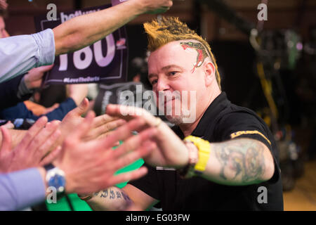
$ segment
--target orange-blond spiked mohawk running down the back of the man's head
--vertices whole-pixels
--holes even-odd
[[[162,17],[158,20],[152,20],[151,23],[144,23],[145,32],[148,37],[148,50],[156,51],[161,46],[171,41],[180,41],[185,39],[195,39],[203,44],[209,53],[216,70],[216,80],[220,87],[220,75],[218,72],[216,60],[211,52],[211,47],[205,39],[199,36],[194,30],[191,30],[185,23],[178,18]]]

